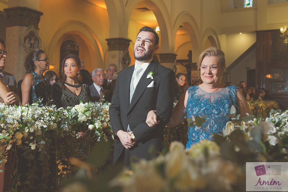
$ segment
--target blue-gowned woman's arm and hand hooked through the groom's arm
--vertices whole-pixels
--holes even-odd
[[[187,100],[188,91],[186,91],[186,93],[182,94],[182,96],[180,97],[179,101],[175,106],[172,117],[170,118],[170,122],[167,124],[167,126],[175,127],[182,121],[182,119],[186,115]],[[149,127],[154,127],[159,123],[159,121],[157,121],[156,111],[149,111],[149,113],[147,114],[146,123]]]

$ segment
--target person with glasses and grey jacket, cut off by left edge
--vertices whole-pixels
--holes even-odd
[[[5,58],[7,55],[7,51],[5,51],[5,43],[4,40],[0,38],[0,43],[3,45],[4,50],[0,50],[0,56],[5,55],[5,57],[2,57],[0,60],[0,78],[4,81],[4,83],[9,87],[11,92],[14,92],[16,95],[19,96],[17,83],[15,80],[15,76],[11,73],[3,71],[5,67]]]

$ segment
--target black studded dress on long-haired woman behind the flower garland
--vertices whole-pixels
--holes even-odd
[[[67,83],[65,83],[67,84]],[[69,84],[68,84],[69,85]],[[81,87],[81,92],[79,95],[71,92],[65,85],[64,82],[56,82],[52,86],[52,104],[56,105],[57,108],[63,107],[74,107],[75,105],[80,104],[80,101],[83,103],[90,101],[90,90],[87,84],[79,83],[79,88]],[[90,155],[90,145],[88,145],[88,136],[80,137],[78,139],[80,146],[77,147],[76,153],[78,159],[84,160],[87,159]]]

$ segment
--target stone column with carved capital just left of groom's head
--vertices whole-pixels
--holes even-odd
[[[118,66],[118,71],[125,69],[131,63],[128,47],[130,45],[129,39],[125,38],[111,38],[105,39],[108,45],[107,65],[113,63]],[[104,69],[106,71],[106,69]]]

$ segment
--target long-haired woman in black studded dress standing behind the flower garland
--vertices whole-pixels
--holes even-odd
[[[62,81],[58,81],[52,86],[52,104],[57,108],[74,107],[90,101],[90,90],[87,84],[83,84],[77,80],[77,73],[80,70],[80,59],[75,55],[68,55],[62,62],[63,77]],[[77,149],[78,159],[86,159],[90,154],[90,146],[87,145],[88,138],[86,133],[78,132],[81,136],[79,142],[81,146]]]

